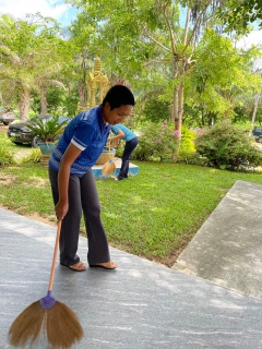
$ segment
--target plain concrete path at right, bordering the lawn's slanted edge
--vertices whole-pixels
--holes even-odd
[[[237,181],[174,268],[262,301],[262,185]]]

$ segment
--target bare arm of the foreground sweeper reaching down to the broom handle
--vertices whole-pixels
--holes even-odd
[[[58,192],[59,192],[59,202],[55,207],[57,218],[63,219],[68,213],[68,186],[69,186],[69,177],[70,177],[70,167],[73,161],[81,154],[81,149],[78,148],[72,143],[69,144],[66,153],[62,156],[59,172],[58,172]]]

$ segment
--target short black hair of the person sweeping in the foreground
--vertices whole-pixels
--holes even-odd
[[[109,103],[111,110],[121,106],[134,106],[134,96],[132,92],[123,85],[112,86],[103,99],[103,107]]]

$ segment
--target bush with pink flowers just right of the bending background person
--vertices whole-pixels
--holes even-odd
[[[178,134],[167,121],[160,123],[147,122],[142,127],[141,134],[132,159],[163,161],[164,159],[171,159],[178,151]]]

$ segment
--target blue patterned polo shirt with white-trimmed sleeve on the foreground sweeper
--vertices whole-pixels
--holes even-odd
[[[52,152],[49,166],[58,171],[61,158],[70,143],[82,151],[70,168],[70,174],[83,176],[91,170],[107,143],[110,125],[104,124],[102,106],[79,113],[67,125]]]

